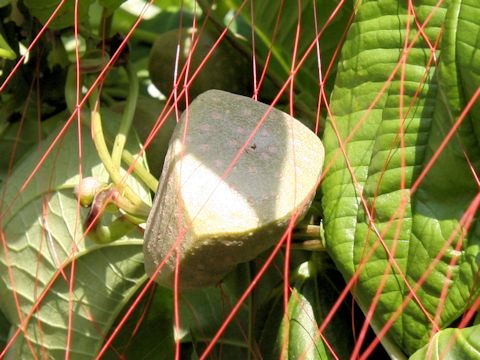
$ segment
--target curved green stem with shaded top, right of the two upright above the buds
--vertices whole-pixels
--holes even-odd
[[[125,70],[128,76],[129,91],[125,104],[125,109],[122,114],[122,121],[120,123],[120,128],[118,133],[115,136],[115,141],[113,143],[112,149],[112,163],[113,166],[120,168],[122,162],[122,151],[125,147],[127,141],[127,136],[132,126],[133,117],[135,115],[135,108],[137,106],[138,98],[138,77],[135,69],[130,63],[125,65]]]

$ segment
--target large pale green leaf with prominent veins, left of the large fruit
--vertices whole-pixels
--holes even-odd
[[[115,121],[111,116],[109,119]],[[53,135],[57,133],[58,130]],[[52,142],[50,136],[15,169],[4,185],[6,189],[1,189],[2,193],[5,190],[2,232],[6,248],[0,257],[0,309],[18,328],[19,313],[25,318],[42,292],[47,292],[25,333],[10,349],[12,358],[32,358],[39,354],[63,358],[68,331],[70,356],[93,358],[116,315],[146,277],[139,232],[129,233],[129,238],[106,246],[97,245],[88,237],[82,239],[87,210],[81,209],[78,214],[73,194],[73,187],[79,181],[77,136],[73,125],[30,185],[21,189]],[[83,176],[106,181],[106,171],[88,129],[82,131],[82,148]],[[148,198],[148,192],[132,177],[129,183],[141,197]],[[70,291],[73,259],[75,272]],[[62,274],[54,279],[62,265],[65,278]]]

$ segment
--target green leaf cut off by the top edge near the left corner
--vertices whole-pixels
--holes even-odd
[[[88,20],[88,9],[93,0],[84,0],[79,2],[78,6],[78,21],[83,22]],[[36,17],[42,24],[52,16],[52,13],[60,4],[57,0],[25,0],[25,6],[30,13]],[[49,28],[52,30],[61,30],[73,26],[75,18],[75,0],[66,0],[55,19],[50,23]]]

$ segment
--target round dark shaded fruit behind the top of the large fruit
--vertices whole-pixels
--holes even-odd
[[[180,43],[178,77],[180,77],[190,52],[193,51],[188,72],[188,79],[190,79],[208,52],[214,48],[218,38],[205,29],[201,34],[195,34],[194,41],[198,39],[198,44],[195,49],[192,49],[194,45],[192,43],[193,31],[194,29],[191,28],[181,29],[180,40],[179,30],[168,31],[159,35],[153,44],[148,66],[150,78],[153,84],[167,97],[173,89],[177,45]],[[189,99],[194,99],[209,89],[248,95],[252,92],[251,79],[251,65],[238,50],[224,39],[215,48],[190,85]],[[184,78],[180,81],[179,92],[183,85]]]

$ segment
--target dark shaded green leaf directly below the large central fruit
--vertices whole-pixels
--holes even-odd
[[[201,353],[210,343],[231,306],[243,292],[239,291],[239,285],[247,285],[244,269],[245,266],[239,267],[238,271],[226,280],[222,289],[209,287],[181,293],[181,328],[178,336],[183,344],[182,358],[188,353],[187,348],[193,347]],[[145,299],[130,316],[110,348],[107,358],[117,359],[118,353],[122,353],[126,358],[174,358],[173,291],[162,286],[157,286],[154,291],[151,302]],[[148,297],[147,295],[146,298]],[[127,304],[124,308],[128,309],[129,306],[130,304]],[[214,353],[219,351],[222,357],[229,358],[225,353],[228,347],[235,354],[235,358],[246,358],[249,311],[248,305],[244,304],[237,320],[228,327]]]

